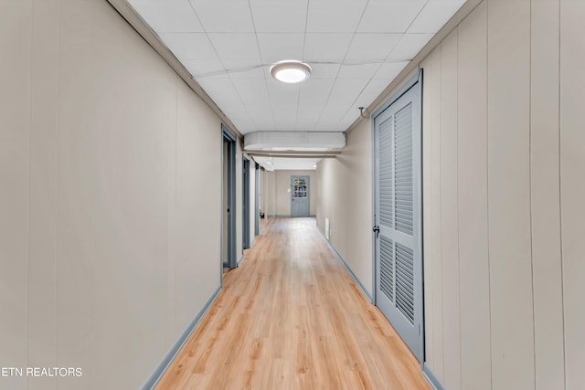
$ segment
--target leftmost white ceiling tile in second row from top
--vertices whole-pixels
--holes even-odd
[[[218,59],[205,33],[166,33],[161,39],[180,60]]]

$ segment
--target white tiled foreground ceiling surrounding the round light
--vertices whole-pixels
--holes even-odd
[[[239,132],[344,132],[465,0],[128,0]],[[298,59],[302,84],[271,79]]]

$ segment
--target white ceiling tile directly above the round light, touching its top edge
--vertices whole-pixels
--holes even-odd
[[[258,43],[265,64],[303,58],[303,34],[258,34]]]

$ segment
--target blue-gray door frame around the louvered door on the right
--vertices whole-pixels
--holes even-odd
[[[414,221],[415,224],[418,225],[418,229],[419,229],[419,237],[418,237],[418,242],[417,245],[419,247],[419,253],[420,253],[420,297],[421,297],[421,302],[420,302],[420,317],[421,317],[421,322],[420,322],[420,334],[421,334],[421,356],[420,356],[420,364],[424,364],[425,362],[425,319],[424,319],[424,247],[422,245],[423,243],[423,232],[424,232],[424,211],[422,208],[422,199],[423,199],[423,191],[424,188],[422,186],[423,184],[423,165],[422,165],[422,159],[423,159],[423,134],[422,134],[422,111],[423,111],[423,107],[422,107],[422,94],[423,94],[423,84],[422,84],[422,69],[419,69],[419,71],[417,73],[415,73],[410,79],[408,79],[400,88],[399,90],[397,90],[386,102],[384,102],[384,104],[382,104],[378,110],[374,111],[371,115],[371,139],[372,139],[372,227],[376,227],[377,224],[377,213],[378,213],[378,208],[377,208],[377,194],[378,194],[378,187],[377,187],[377,183],[378,183],[378,176],[377,176],[377,172],[378,172],[378,154],[376,153],[376,118],[378,117],[378,115],[380,115],[382,112],[386,111],[388,109],[388,107],[390,107],[392,104],[394,104],[397,100],[399,100],[405,93],[407,93],[412,87],[414,87],[417,83],[420,83],[420,172],[419,172],[419,177],[418,177],[418,185],[419,185],[419,194],[418,196],[413,200],[413,202],[419,206],[419,218],[417,221]],[[378,306],[378,286],[376,283],[376,277],[377,277],[377,270],[378,270],[378,261],[377,261],[377,256],[378,256],[378,250],[377,250],[377,241],[376,241],[376,232],[372,231],[372,282],[373,282],[373,289],[372,289],[372,303],[376,306]]]

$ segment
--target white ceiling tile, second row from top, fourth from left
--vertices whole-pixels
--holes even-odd
[[[346,58],[353,34],[307,34],[304,61],[339,61]]]

